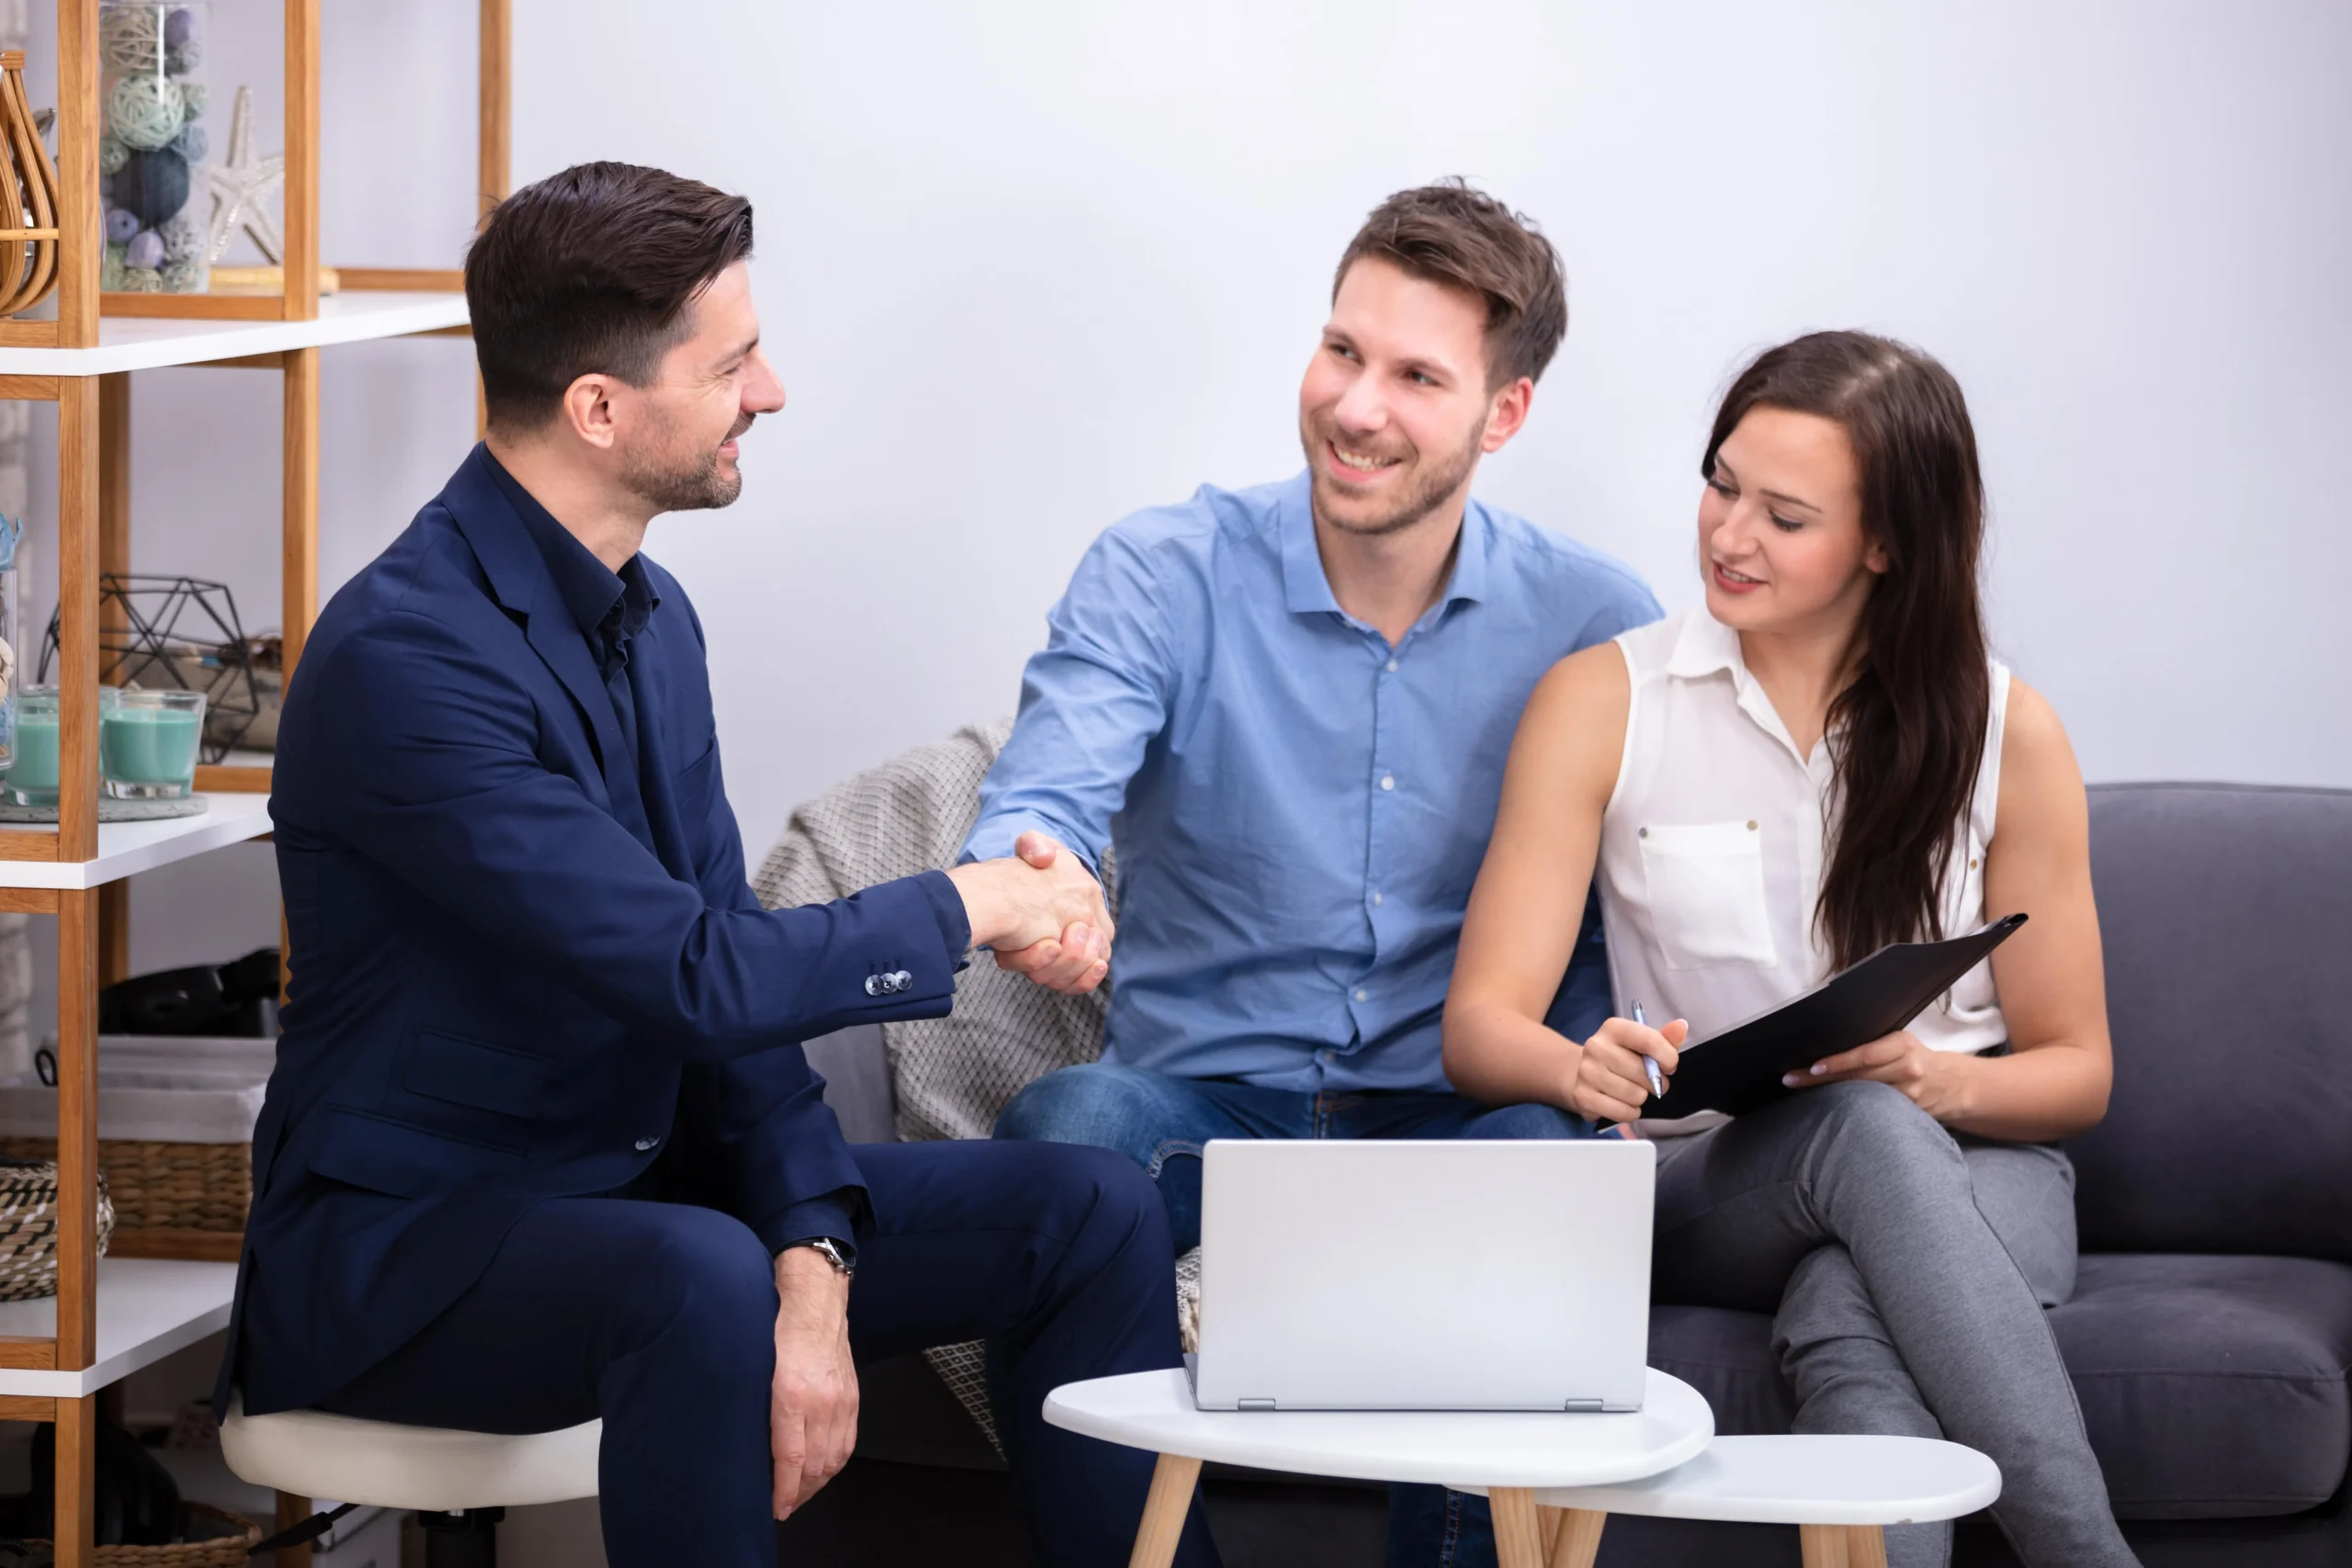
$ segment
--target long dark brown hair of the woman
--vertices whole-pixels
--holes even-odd
[[[1905,343],[1816,331],[1764,350],[1724,395],[1700,475],[1715,477],[1715,454],[1755,407],[1846,428],[1863,529],[1886,552],[1853,628],[1851,682],[1830,703],[1835,842],[1813,922],[1842,969],[1945,936],[1945,867],[1992,710],[1976,592],[1985,482],[1959,383]]]

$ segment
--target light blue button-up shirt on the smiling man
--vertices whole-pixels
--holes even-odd
[[[1268,1088],[1444,1088],[1437,1020],[1536,679],[1658,618],[1630,569],[1470,503],[1397,646],[1341,611],[1308,477],[1103,534],[1021,684],[967,858],[1117,839],[1103,1058]],[[1571,992],[1606,1011],[1597,933]],[[1559,1016],[1559,1013],[1555,1013]]]

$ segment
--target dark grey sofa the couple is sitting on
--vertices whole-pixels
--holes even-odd
[[[2072,1145],[2082,1281],[2051,1328],[2150,1568],[2352,1563],[2352,792],[2091,790],[2117,1081]],[[889,1138],[875,1034],[811,1046]],[[1661,1302],[1651,1361],[1719,1432],[1785,1432],[1769,1319]],[[1025,1563],[1002,1465],[920,1359],[868,1368],[858,1462],[788,1563]],[[1230,1568],[1378,1563],[1378,1488],[1209,1476]],[[1962,1563],[2006,1563],[1983,1521]],[[1602,1563],[1797,1563],[1795,1530],[1613,1521]]]

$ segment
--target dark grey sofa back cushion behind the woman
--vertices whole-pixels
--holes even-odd
[[[2352,790],[2100,785],[2114,1098],[2084,1251],[2352,1262]]]

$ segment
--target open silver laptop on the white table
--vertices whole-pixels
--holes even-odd
[[[1204,1150],[1202,1410],[1639,1410],[1646,1143]]]

